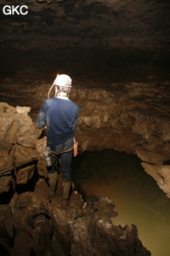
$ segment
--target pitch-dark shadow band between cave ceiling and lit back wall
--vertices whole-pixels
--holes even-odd
[[[167,52],[142,49],[59,48],[0,50],[0,79],[46,82],[56,73],[69,73],[75,85],[110,86],[111,83],[168,81]]]

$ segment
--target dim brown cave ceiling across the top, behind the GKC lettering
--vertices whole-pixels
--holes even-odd
[[[27,15],[3,15],[4,5]],[[169,50],[168,0],[1,1],[2,47]]]

